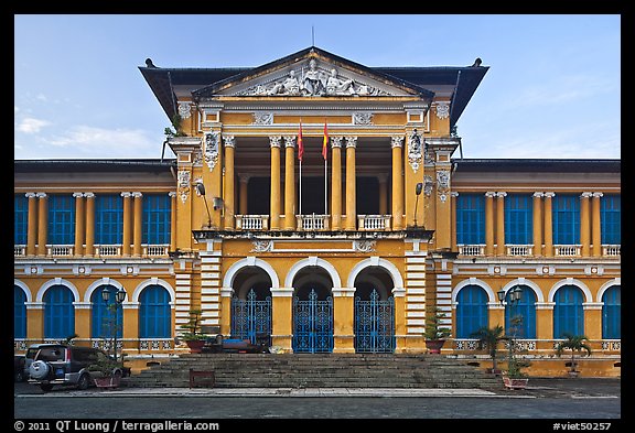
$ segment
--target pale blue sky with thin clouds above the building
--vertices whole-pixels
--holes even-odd
[[[14,159],[161,158],[146,58],[257,67],[311,45],[368,67],[481,57],[464,158],[621,158],[618,14],[17,14]]]

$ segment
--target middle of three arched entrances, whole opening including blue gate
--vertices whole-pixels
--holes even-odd
[[[303,268],[293,279],[294,353],[333,351],[333,281],[316,266]]]

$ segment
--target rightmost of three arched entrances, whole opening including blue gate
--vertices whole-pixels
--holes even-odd
[[[395,351],[395,300],[390,274],[367,267],[355,279],[355,351]]]

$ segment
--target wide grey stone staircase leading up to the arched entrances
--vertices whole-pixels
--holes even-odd
[[[428,354],[187,354],[122,386],[187,388],[190,368],[214,370],[216,388],[503,388],[464,360]]]

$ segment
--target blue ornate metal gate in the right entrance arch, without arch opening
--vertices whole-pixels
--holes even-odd
[[[395,300],[379,300],[373,289],[369,301],[355,297],[355,351],[395,351]]]

